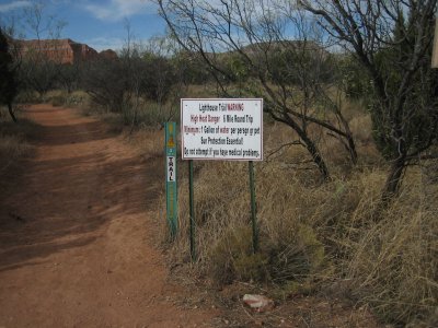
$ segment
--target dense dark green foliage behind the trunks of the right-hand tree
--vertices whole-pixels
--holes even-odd
[[[345,92],[367,103],[376,145],[389,161],[417,154],[438,139],[438,72],[430,68],[433,25],[425,31],[425,55],[410,71],[416,28],[415,22],[405,20],[402,12],[393,28],[392,43],[373,54],[374,75],[369,67],[359,66],[348,57],[343,61]],[[378,85],[376,77],[384,85]]]

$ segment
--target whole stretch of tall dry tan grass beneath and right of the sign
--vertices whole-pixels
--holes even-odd
[[[256,163],[261,249],[251,242],[247,164],[195,166],[197,270],[215,283],[273,284],[284,295],[330,291],[370,305],[387,323],[436,325],[438,187],[411,168],[383,212],[384,167],[322,183],[279,161]],[[182,172],[183,169],[180,169]],[[189,262],[188,187],[180,179],[173,263]]]

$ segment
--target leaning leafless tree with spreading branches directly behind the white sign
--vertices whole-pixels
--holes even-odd
[[[322,28],[289,2],[157,0],[180,44],[204,59],[220,95],[263,96],[265,110],[298,134],[324,178],[330,172],[314,130],[336,137],[356,163],[356,148],[330,95],[332,56]],[[238,90],[235,90],[238,85]]]

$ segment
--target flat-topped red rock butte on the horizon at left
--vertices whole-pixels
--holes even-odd
[[[70,38],[20,40],[19,44],[20,52],[23,57],[43,55],[57,63],[76,63],[97,58],[117,58],[117,54],[114,50],[107,49],[97,52],[92,47],[73,42]]]

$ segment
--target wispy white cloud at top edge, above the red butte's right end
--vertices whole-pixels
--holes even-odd
[[[119,21],[134,14],[150,11],[149,0],[110,0],[105,4],[85,4],[84,9],[96,19],[103,21]]]

